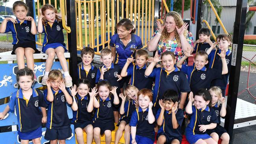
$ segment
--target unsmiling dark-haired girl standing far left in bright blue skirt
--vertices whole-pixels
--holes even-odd
[[[14,113],[15,105],[18,119],[18,135],[21,144],[28,144],[32,139],[33,144],[41,144],[42,123],[46,123],[46,109],[43,93],[32,88],[34,73],[29,68],[22,68],[16,74],[20,89],[13,93],[9,104],[0,113],[0,120],[11,111]],[[41,110],[40,108],[41,107]],[[43,118],[42,118],[43,113]]]

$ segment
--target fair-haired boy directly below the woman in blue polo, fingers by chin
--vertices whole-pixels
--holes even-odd
[[[117,87],[117,95],[121,93],[121,87],[119,86],[119,81],[122,79],[120,76],[120,67],[117,64],[113,64],[113,56],[111,50],[108,48],[103,48],[100,52],[100,60],[103,66],[97,71],[97,76],[95,82],[98,83],[99,79],[107,79],[111,86]],[[120,100],[120,99],[119,99]],[[114,105],[114,116],[115,123],[119,120],[119,107],[120,105]]]

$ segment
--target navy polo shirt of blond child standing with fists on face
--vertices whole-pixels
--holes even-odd
[[[66,90],[70,93],[69,89]],[[54,100],[53,102],[49,102],[46,99],[47,91],[47,89],[44,90],[45,102],[48,104],[46,128],[64,129],[70,127],[69,116],[67,114],[67,101],[64,93],[60,89],[58,92],[52,89]]]

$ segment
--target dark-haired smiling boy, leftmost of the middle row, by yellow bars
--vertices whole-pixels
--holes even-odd
[[[78,76],[80,79],[88,79],[91,88],[95,87],[97,68],[91,63],[94,57],[94,50],[90,47],[85,47],[81,51],[82,65],[78,66]]]

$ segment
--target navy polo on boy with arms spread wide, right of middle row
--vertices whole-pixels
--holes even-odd
[[[213,79],[220,79],[222,70],[206,68],[197,70],[195,66],[182,65],[181,71],[187,74],[190,89],[193,93],[199,89],[210,89]]]

